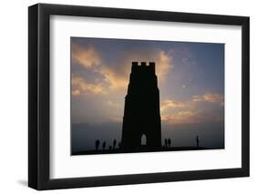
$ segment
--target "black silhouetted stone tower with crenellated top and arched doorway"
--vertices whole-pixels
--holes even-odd
[[[141,139],[146,137],[143,146]],[[161,148],[161,118],[159,111],[158,77],[155,63],[132,62],[125,112],[121,148],[126,150]]]

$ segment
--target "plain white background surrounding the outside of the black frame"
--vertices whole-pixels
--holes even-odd
[[[90,189],[51,190],[46,193],[255,193],[256,191],[256,4],[224,0],[48,0],[40,3],[113,6],[137,9],[251,16],[251,178],[182,181]],[[34,0],[1,2],[0,20],[0,192],[36,193],[27,179],[27,6]],[[255,4],[255,5],[254,5]],[[255,118],[255,119],[254,119]]]

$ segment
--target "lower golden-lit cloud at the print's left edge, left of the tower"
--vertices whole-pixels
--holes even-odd
[[[100,84],[89,84],[82,77],[72,75],[72,96],[87,94],[106,94],[104,87]]]

